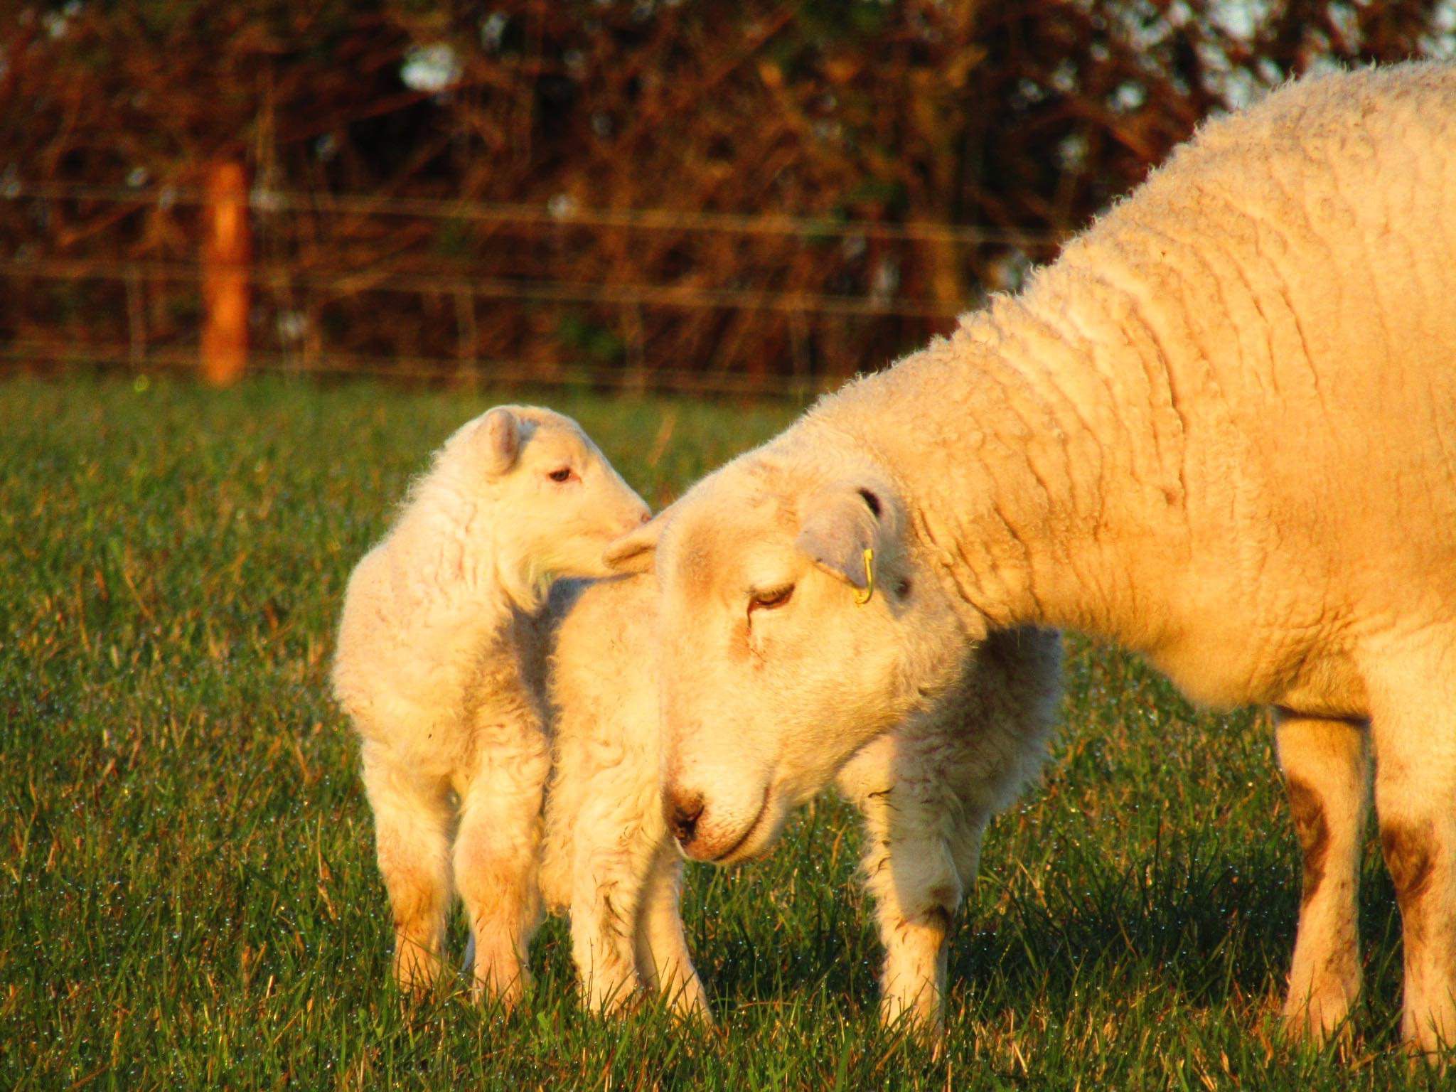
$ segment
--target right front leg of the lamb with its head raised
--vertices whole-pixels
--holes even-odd
[[[527,951],[542,920],[537,866],[549,766],[539,732],[495,740],[460,801],[454,872],[470,922],[472,993],[507,1008],[531,981]]]

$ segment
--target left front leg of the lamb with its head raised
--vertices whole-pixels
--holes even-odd
[[[440,974],[450,909],[448,786],[364,750],[364,791],[374,811],[374,844],[395,919],[395,980],[428,992]]]

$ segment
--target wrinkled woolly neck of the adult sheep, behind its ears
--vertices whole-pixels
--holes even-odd
[[[1152,581],[1187,550],[1182,451],[1159,447],[1152,411],[1142,419],[1117,392],[1130,368],[1147,384],[1158,367],[1041,314],[1053,317],[997,300],[852,387],[844,411],[863,415],[852,431],[897,472],[922,537],[974,613],[996,628],[1048,625],[1147,649],[1166,625],[1149,610],[1166,601]],[[888,419],[900,427],[885,430]]]

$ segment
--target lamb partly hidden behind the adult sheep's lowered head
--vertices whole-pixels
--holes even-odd
[[[658,791],[658,619],[648,577],[566,593],[555,632],[555,769],[542,890],[569,909],[587,1003],[616,1009],[639,987],[708,1015],[678,916],[681,858]],[[553,600],[558,597],[553,594]],[[862,872],[885,948],[881,1015],[941,1026],[951,916],[976,878],[981,833],[1045,756],[1060,638],[1002,633],[925,716],[872,741],[839,773],[865,820]]]

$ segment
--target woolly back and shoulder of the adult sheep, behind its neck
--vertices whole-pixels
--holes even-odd
[[[1452,253],[1456,66],[1372,68],[1207,124],[989,322],[1118,392],[1171,515],[1238,537],[1230,577],[1370,606],[1456,572]]]

